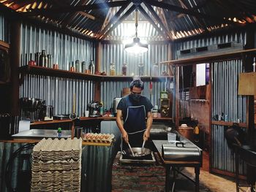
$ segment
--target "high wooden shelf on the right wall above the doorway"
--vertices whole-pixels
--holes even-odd
[[[177,60],[170,60],[170,61],[162,61],[160,64],[173,64],[174,66],[179,65],[186,65],[186,64],[198,64],[199,62],[209,62],[209,61],[223,61],[225,59],[230,58],[241,58],[244,53],[252,53],[256,52],[256,49],[250,49],[250,50],[240,50],[240,51],[234,51],[231,53],[209,53],[209,55],[203,55],[203,56],[194,56],[189,58],[181,58]]]

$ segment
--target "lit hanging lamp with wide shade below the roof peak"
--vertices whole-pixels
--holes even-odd
[[[133,42],[127,45],[124,45],[124,50],[127,53],[145,53],[148,51],[148,45],[140,42],[140,38],[138,38],[138,9],[135,10],[135,38],[133,38]]]

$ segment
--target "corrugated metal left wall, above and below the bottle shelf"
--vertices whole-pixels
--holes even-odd
[[[21,26],[20,66],[28,64],[29,55],[46,50],[51,54],[53,64],[59,64],[59,69],[69,70],[72,62],[79,60],[89,64],[95,58],[95,45],[92,42],[23,24]],[[94,59],[95,60],[95,59]],[[43,99],[46,104],[53,105],[54,114],[69,114],[72,112],[73,96],[75,94],[75,112],[84,116],[89,101],[94,98],[94,82],[88,80],[72,80],[60,77],[45,77],[27,75],[20,86],[21,97]]]

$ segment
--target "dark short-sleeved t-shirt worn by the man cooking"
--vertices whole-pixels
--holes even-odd
[[[128,102],[129,99],[129,102]],[[146,114],[145,116],[147,117],[148,112],[151,111],[153,108],[153,105],[151,104],[151,101],[149,101],[146,96],[140,96],[140,101],[134,101],[132,98],[129,97],[129,95],[124,96],[118,103],[118,106],[116,107],[117,110],[121,110],[123,119],[127,118],[127,108],[128,107],[135,107],[135,106],[145,106]]]

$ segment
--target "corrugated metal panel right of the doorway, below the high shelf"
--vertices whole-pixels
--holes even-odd
[[[246,97],[238,96],[238,74],[243,72],[241,60],[213,63],[211,114],[227,115],[227,121],[246,122]],[[211,126],[211,167],[227,172],[235,172],[235,156],[227,146],[224,137],[225,126]],[[244,164],[239,171],[244,172]]]

